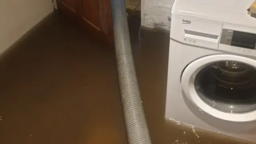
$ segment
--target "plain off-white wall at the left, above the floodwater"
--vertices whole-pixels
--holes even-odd
[[[0,0],[0,54],[52,11],[51,0]]]

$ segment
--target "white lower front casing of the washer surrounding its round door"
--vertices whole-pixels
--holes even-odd
[[[256,142],[256,122],[230,122],[215,118],[192,102],[181,86],[182,72],[183,70],[186,72],[185,70],[188,70],[190,64],[201,58],[222,54],[225,53],[170,40],[165,118],[211,132]],[[218,60],[214,59],[213,61],[217,62]],[[206,105],[209,104],[206,103]]]

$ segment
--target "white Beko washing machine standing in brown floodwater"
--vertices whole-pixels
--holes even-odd
[[[256,142],[253,2],[174,2],[166,118]]]

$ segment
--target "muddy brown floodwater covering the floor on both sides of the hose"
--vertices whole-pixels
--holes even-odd
[[[130,19],[153,144],[241,144],[164,120],[168,34]],[[0,58],[0,144],[127,144],[114,50],[56,14]]]

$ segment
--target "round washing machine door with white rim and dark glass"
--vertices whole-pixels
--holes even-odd
[[[184,95],[209,115],[256,120],[256,60],[229,54],[199,58],[184,68],[181,85]]]

